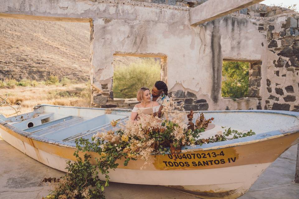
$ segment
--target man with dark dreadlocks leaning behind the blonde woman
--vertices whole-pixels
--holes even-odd
[[[164,81],[156,81],[152,88],[151,100],[158,102],[161,106],[158,112],[158,117],[162,115],[163,104],[169,101],[168,87]]]

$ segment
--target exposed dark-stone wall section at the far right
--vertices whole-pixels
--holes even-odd
[[[299,112],[299,14],[269,19],[264,109]],[[272,61],[272,62],[271,62]]]

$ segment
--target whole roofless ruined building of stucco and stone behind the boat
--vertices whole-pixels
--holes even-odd
[[[90,23],[93,107],[124,106],[112,89],[113,56],[121,55],[160,58],[161,80],[187,110],[299,111],[292,10],[260,0],[0,2],[0,17]],[[223,60],[250,62],[248,98],[221,97]]]

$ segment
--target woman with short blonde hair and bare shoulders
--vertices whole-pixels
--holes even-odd
[[[160,104],[150,100],[150,89],[141,87],[137,92],[137,100],[140,102],[136,104],[131,113],[131,120],[136,120],[137,115],[141,114],[153,114],[157,115]]]

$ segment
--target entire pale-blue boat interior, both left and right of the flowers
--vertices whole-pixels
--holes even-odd
[[[20,134],[34,137],[41,141],[56,141],[57,143],[75,146],[78,138],[92,140],[98,132],[116,131],[123,128],[122,125],[129,120],[130,110],[120,109],[92,109],[81,107],[62,107],[55,105],[40,105],[31,113],[6,118],[0,114],[0,120],[12,125]],[[284,132],[293,131],[293,127],[299,126],[299,113],[289,111],[272,110],[236,110],[236,111],[203,111],[206,118],[213,117],[211,130],[202,133],[201,138],[208,138],[220,131],[231,127],[239,132],[252,130],[256,133],[248,138],[240,138],[237,141],[225,141],[235,143],[254,139],[267,138]],[[193,123],[200,112],[193,116]],[[117,125],[112,126],[111,121],[117,120]],[[222,128],[222,127],[225,127]],[[221,145],[222,143],[210,143],[198,146],[201,148]],[[188,147],[187,147],[188,148]]]

